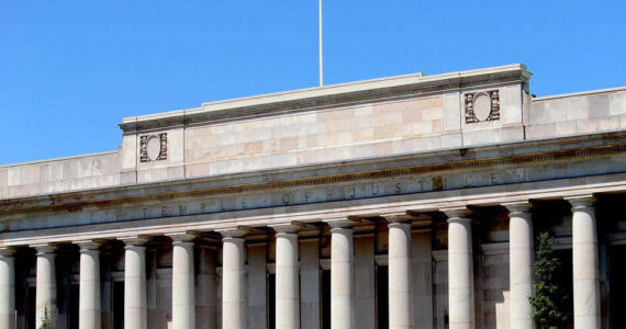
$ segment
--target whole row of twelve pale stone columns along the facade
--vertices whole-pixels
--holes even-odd
[[[568,198],[572,204],[574,327],[600,328],[597,234],[593,197]],[[532,329],[534,236],[527,202],[503,204],[510,212],[510,325]],[[474,287],[471,211],[440,209],[448,217],[448,298],[451,329],[474,328]],[[411,280],[411,217],[390,216],[389,327],[414,328]],[[329,222],[331,325],[358,328],[355,317],[354,222]],[[271,226],[276,231],[276,327],[300,327],[300,265],[298,224]],[[222,328],[246,327],[245,236],[241,228],[222,235]],[[195,328],[194,235],[175,232],[172,239],[172,328]],[[125,245],[124,327],[147,328],[145,237],[121,238]],[[99,241],[75,241],[80,247],[79,328],[100,328]],[[31,246],[36,253],[36,327],[44,314],[57,322],[55,246]],[[202,272],[202,271],[200,271]],[[13,249],[0,248],[0,328],[14,327]],[[203,280],[203,279],[200,279]],[[209,303],[209,302],[208,302]],[[432,319],[425,319],[432,320]]]

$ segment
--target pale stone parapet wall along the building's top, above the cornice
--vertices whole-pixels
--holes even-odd
[[[626,88],[533,99],[511,65],[125,118],[119,151],[0,167],[0,198],[626,129]]]

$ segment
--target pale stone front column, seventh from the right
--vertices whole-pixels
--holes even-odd
[[[222,328],[246,328],[245,235],[242,229],[221,231],[222,241]]]

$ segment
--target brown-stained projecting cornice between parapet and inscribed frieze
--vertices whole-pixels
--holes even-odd
[[[608,143],[610,140],[606,135],[613,135],[615,143]],[[504,151],[503,146],[501,145],[499,147],[487,146],[435,151],[427,155],[417,154],[411,156],[388,157],[384,159],[371,159],[369,162],[365,160],[344,161],[342,163],[336,163],[337,167],[350,168],[350,166],[353,166],[356,167],[357,170],[346,170],[344,172],[342,172],[342,170],[334,170],[334,172],[340,173],[333,174],[322,173],[318,175],[306,175],[302,173],[293,173],[303,169],[294,169],[293,172],[286,172],[284,170],[282,170],[282,172],[261,172],[260,174],[257,172],[255,173],[256,178],[264,175],[270,179],[267,181],[259,179],[250,183],[238,185],[232,185],[228,184],[228,182],[231,179],[241,180],[242,174],[224,178],[187,179],[174,182],[116,186],[25,198],[11,198],[0,201],[0,215],[7,213],[26,214],[31,212],[80,212],[88,208],[108,209],[139,204],[199,200],[217,195],[258,193],[283,189],[298,189],[303,186],[340,184],[418,174],[433,174],[439,172],[444,173],[449,171],[471,171],[492,167],[507,168],[519,167],[523,164],[571,161],[572,159],[624,154],[626,152],[624,135],[626,135],[624,132],[600,134],[596,137],[599,140],[604,141],[604,144],[597,144],[594,139],[590,139],[590,146],[586,147],[577,147],[574,144],[568,146],[567,143],[563,143],[563,139],[551,139],[510,144],[507,151]],[[559,148],[554,147],[554,144],[556,143],[559,143]],[[546,148],[550,150],[544,150],[540,152],[521,151],[523,146],[535,147],[538,145],[547,145]],[[552,147],[550,147],[550,145],[552,145]],[[504,155],[480,158],[481,154],[492,152],[494,150],[499,150],[500,154]],[[424,161],[418,164],[411,164],[411,160],[424,157],[437,159],[437,161]],[[382,167],[381,163],[387,162],[400,163],[400,166],[385,169],[371,169],[372,167],[380,168]],[[324,166],[332,164],[333,163],[327,163]],[[306,169],[311,172],[315,170],[315,167]],[[272,177],[272,174],[275,174],[275,177]],[[286,177],[293,178],[289,179]],[[215,183],[214,181],[221,182]]]

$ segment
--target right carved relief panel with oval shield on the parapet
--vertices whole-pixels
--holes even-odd
[[[466,93],[466,123],[500,120],[500,92],[496,90]]]

